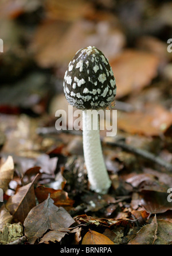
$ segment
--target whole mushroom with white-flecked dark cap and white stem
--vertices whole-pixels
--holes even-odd
[[[101,150],[99,125],[93,128],[90,110],[105,109],[114,101],[116,83],[108,59],[96,47],[80,49],[68,65],[63,85],[69,104],[83,110],[84,159],[91,189],[107,193],[111,181]]]

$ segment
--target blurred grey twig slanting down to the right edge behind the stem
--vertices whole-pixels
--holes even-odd
[[[128,152],[132,152],[136,155],[142,156],[143,158],[146,158],[147,160],[150,160],[154,163],[157,163],[158,165],[165,167],[167,171],[172,171],[172,165],[171,163],[168,163],[164,161],[162,158],[159,156],[154,155],[151,152],[148,152],[146,150],[142,150],[140,148],[135,148],[132,147],[131,145],[127,145],[126,143],[123,142],[104,142],[105,144],[112,146],[112,147],[121,147],[123,150],[126,150]]]

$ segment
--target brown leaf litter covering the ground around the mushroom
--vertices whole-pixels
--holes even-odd
[[[140,2],[0,3],[0,244],[172,243],[171,4]],[[117,85],[117,135],[100,131],[105,195],[89,189],[81,131],[54,128],[64,72],[87,45]]]

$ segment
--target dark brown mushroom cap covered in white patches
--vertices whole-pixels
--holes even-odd
[[[96,47],[77,51],[64,76],[64,94],[78,109],[104,109],[114,101],[116,82],[104,54]]]

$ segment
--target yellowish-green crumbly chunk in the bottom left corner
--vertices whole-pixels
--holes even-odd
[[[24,231],[21,224],[7,223],[5,226],[3,226],[2,230],[0,231],[0,244],[14,242],[18,238],[21,238],[23,234]]]

